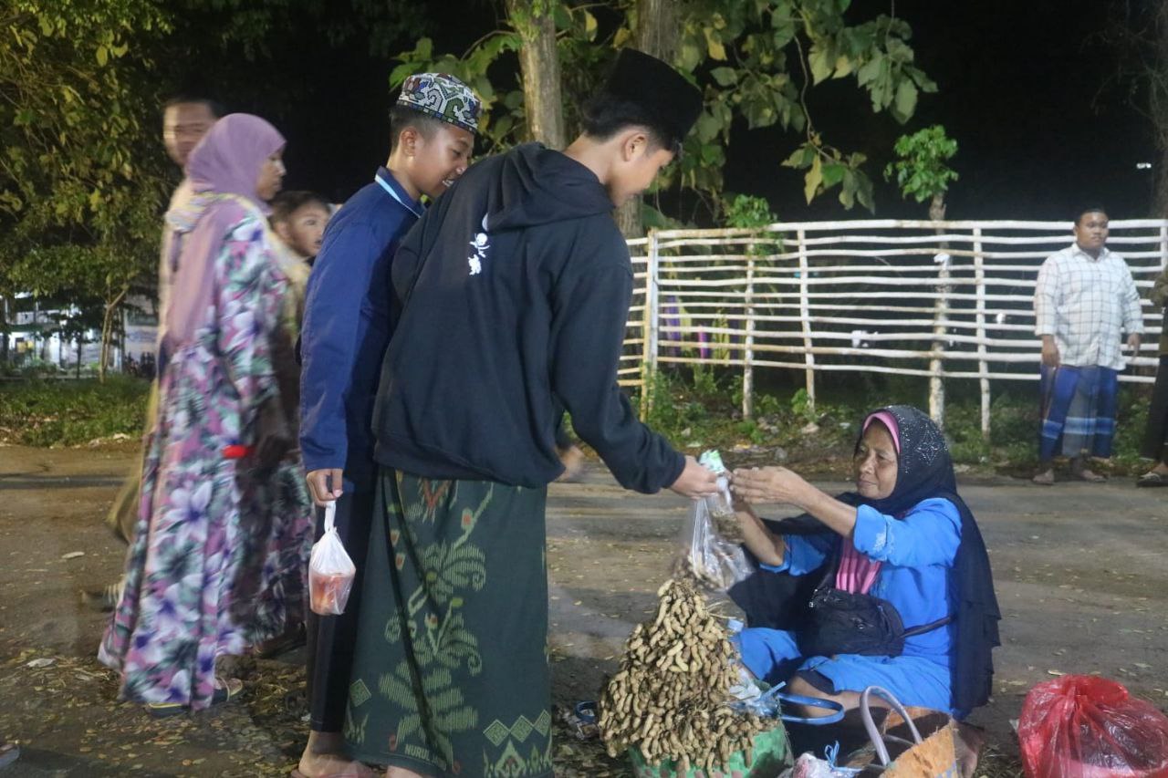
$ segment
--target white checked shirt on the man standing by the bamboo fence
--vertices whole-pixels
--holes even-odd
[[[1142,333],[1140,293],[1127,263],[1106,246],[1099,257],[1077,243],[1051,255],[1034,293],[1035,334],[1054,335],[1059,361],[1122,370],[1121,333]]]

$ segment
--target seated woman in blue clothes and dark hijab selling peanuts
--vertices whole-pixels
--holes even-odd
[[[864,419],[854,467],[856,491],[837,498],[784,467],[735,471],[746,548],[760,568],[755,577],[806,576],[816,585],[814,606],[790,628],[752,626],[738,634],[743,664],[769,682],[788,681],[793,694],[846,709],[876,685],[906,706],[964,717],[989,697],[1000,613],[985,543],[957,494],[945,438],[925,414],[891,405]],[[774,532],[750,501],[795,505],[807,514]],[[751,625],[769,623],[764,611],[784,605],[759,597],[765,585],[731,591]],[[827,612],[841,604],[895,609],[903,628],[892,628],[891,641],[847,634],[854,627],[839,625],[854,624],[851,616],[833,620]]]

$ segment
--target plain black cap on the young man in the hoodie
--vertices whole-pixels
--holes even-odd
[[[656,57],[621,49],[603,92],[644,109],[646,118],[680,144],[702,112],[702,92]]]

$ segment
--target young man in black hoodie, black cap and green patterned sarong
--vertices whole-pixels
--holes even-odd
[[[700,110],[682,76],[625,49],[568,150],[472,167],[394,258],[374,412],[384,520],[346,727],[389,776],[552,774],[544,499],[565,409],[625,487],[716,489],[617,385],[633,273],[611,211]]]

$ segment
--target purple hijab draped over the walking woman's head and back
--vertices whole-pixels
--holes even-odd
[[[167,211],[173,229],[171,303],[162,322],[159,371],[168,357],[189,343],[207,322],[215,286],[215,258],[229,231],[249,213],[267,213],[256,182],[269,157],[284,147],[276,127],[248,113],[231,113],[215,123],[187,160],[194,195]],[[235,195],[235,196],[224,196]]]

